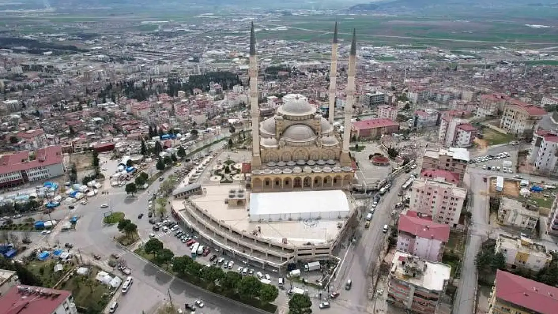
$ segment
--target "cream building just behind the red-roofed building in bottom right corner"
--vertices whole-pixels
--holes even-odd
[[[500,234],[494,251],[504,254],[509,269],[524,268],[538,272],[552,260],[552,255],[546,252],[544,245],[534,243],[526,236]]]

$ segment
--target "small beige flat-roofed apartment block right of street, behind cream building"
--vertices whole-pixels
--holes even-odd
[[[532,233],[537,225],[538,210],[524,207],[517,200],[502,197],[496,221],[498,224],[521,228]]]

